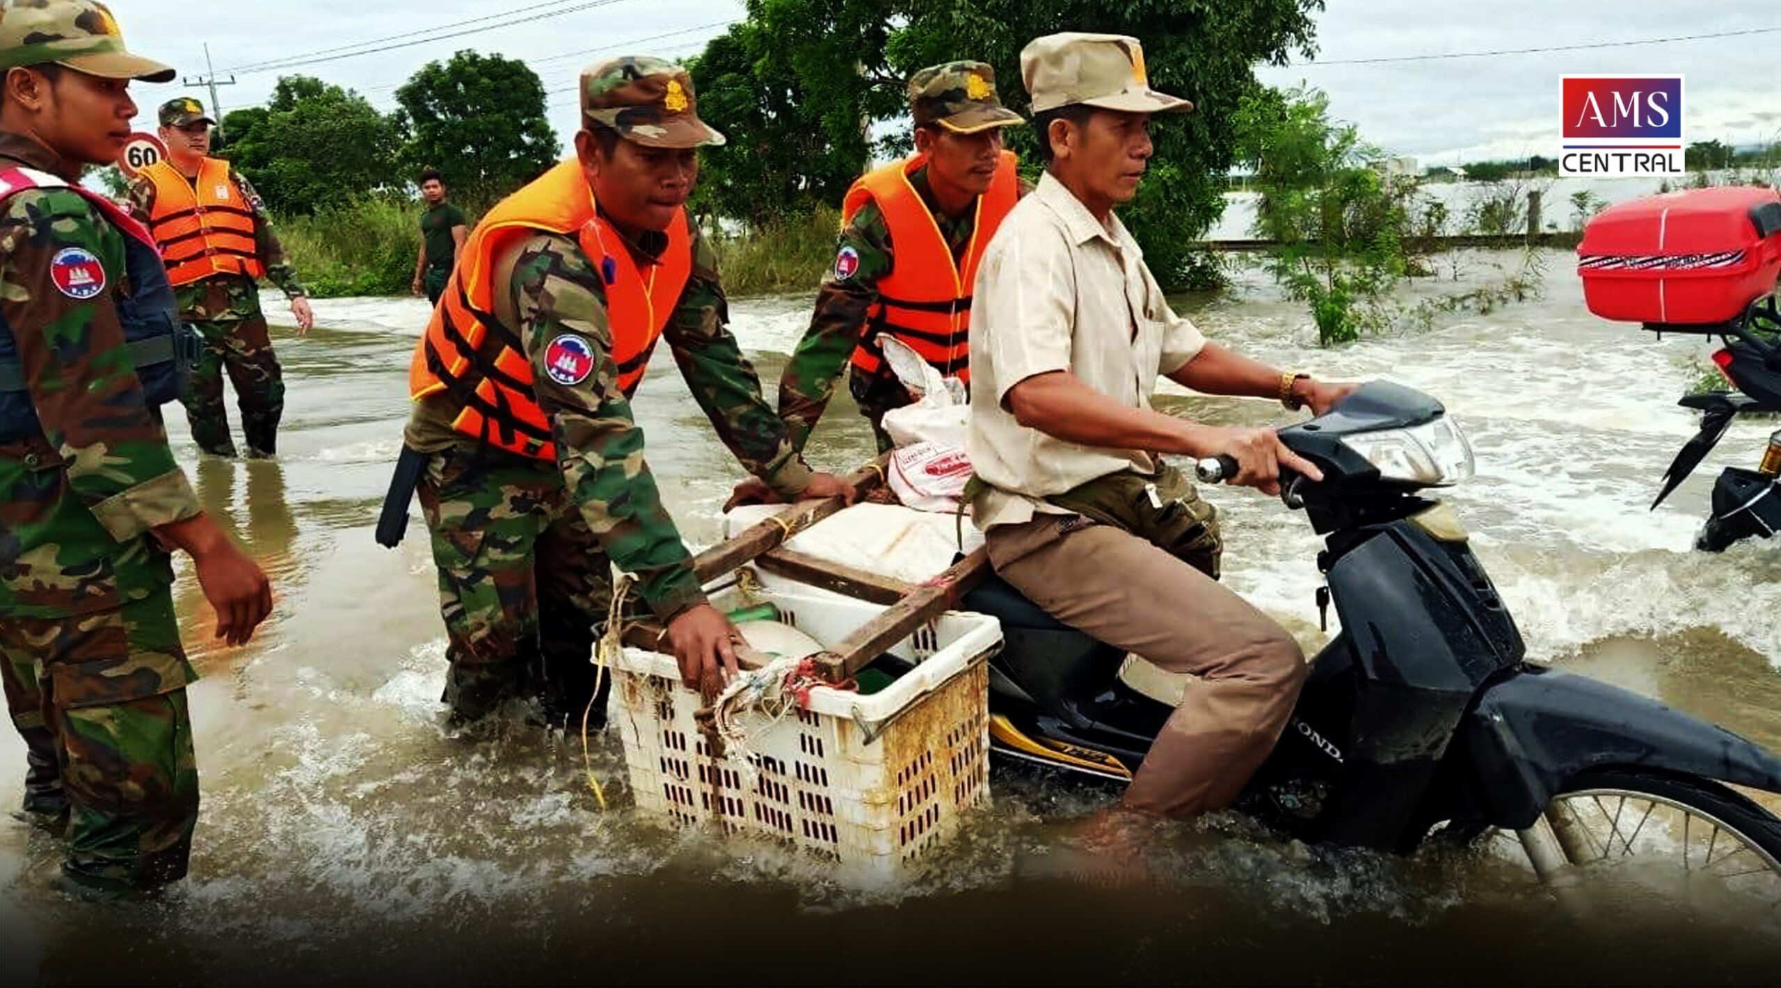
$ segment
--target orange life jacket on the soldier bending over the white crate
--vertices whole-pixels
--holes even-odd
[[[493,315],[499,256],[515,240],[540,230],[573,233],[582,253],[600,269],[613,331],[611,356],[625,397],[643,381],[650,351],[693,272],[693,237],[686,210],[679,210],[668,224],[668,249],[648,265],[648,274],[639,272],[622,235],[595,210],[593,189],[573,158],[502,199],[476,224],[433,320],[415,345],[408,395],[420,401],[443,392],[458,406],[452,427],[459,433],[508,452],[556,459],[550,420],[538,408],[525,347]]]

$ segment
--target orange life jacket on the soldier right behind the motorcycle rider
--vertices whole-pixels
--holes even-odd
[[[908,344],[940,374],[971,381],[971,283],[978,276],[978,262],[996,228],[1001,226],[1015,199],[1021,198],[1021,178],[1015,173],[1013,151],[1003,151],[996,178],[978,196],[976,226],[962,263],[953,262],[953,249],[940,235],[940,226],[908,183],[908,176],[926,162],[924,155],[896,162],[860,176],[841,203],[842,223],[853,219],[867,201],[876,201],[890,230],[890,274],[878,279],[878,304],[866,320],[866,335],[853,349],[853,367],[867,374],[883,367],[883,349],[878,335],[889,333]]]

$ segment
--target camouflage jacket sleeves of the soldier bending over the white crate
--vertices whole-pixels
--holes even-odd
[[[625,246],[643,267],[655,262],[668,237],[645,233],[639,240]],[[588,527],[607,557],[638,577],[638,593],[657,616],[666,620],[703,603],[691,554],[643,461],[643,431],[630,415],[630,399],[618,388],[598,267],[572,237],[538,233],[518,246],[508,290],[538,404],[550,417],[557,468]],[[730,452],[782,497],[793,497],[809,484],[810,468],[760,397],[760,379],[727,320],[718,256],[695,228],[693,274],[663,340]],[[593,370],[579,383],[559,383],[545,368],[545,354],[559,336],[579,338],[593,354]],[[438,450],[472,441],[451,427],[452,413],[443,395],[422,399],[410,417],[408,445]]]

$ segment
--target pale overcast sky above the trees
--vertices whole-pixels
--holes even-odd
[[[1222,0],[1241,2],[1241,0]],[[581,9],[573,9],[581,7]],[[395,87],[427,61],[459,48],[499,52],[533,64],[543,78],[550,123],[573,134],[575,75],[616,53],[686,57],[743,16],[741,0],[265,0],[203,4],[114,0],[130,48],[166,61],[183,75],[203,73],[203,45],[219,75],[224,109],[260,103],[283,73],[306,73],[353,87],[379,109],[395,107]],[[540,16],[531,23],[502,21]],[[335,50],[360,41],[419,32],[452,21],[467,34],[403,45],[319,64],[253,69],[274,59]],[[1672,41],[1551,52],[1382,64],[1334,64],[1505,48],[1542,48],[1781,28],[1772,0],[1640,4],[1630,0],[1330,0],[1318,14],[1318,59],[1263,68],[1263,82],[1307,82],[1330,94],[1334,116],[1361,126],[1373,144],[1416,155],[1423,164],[1553,155],[1558,144],[1558,77],[1565,73],[1687,75],[1685,137],[1738,144],[1781,135],[1781,30],[1744,37]],[[326,55],[317,55],[326,57]],[[971,57],[971,52],[958,52]],[[153,126],[153,107],[182,93],[208,105],[208,94],[180,84],[134,87],[139,125]],[[1186,96],[1193,96],[1188,93]],[[723,121],[712,121],[718,128]]]

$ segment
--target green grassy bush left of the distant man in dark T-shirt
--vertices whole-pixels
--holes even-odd
[[[381,198],[272,217],[290,263],[312,294],[406,296],[420,253],[420,203]]]

